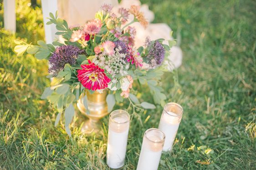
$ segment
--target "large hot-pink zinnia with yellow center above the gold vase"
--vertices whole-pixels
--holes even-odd
[[[82,69],[77,71],[78,81],[83,87],[89,90],[100,90],[108,87],[110,78],[104,73],[104,69],[98,67],[94,63],[81,65]]]

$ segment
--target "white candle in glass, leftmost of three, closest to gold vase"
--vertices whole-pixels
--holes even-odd
[[[107,164],[117,169],[124,165],[130,115],[124,110],[115,110],[109,115]]]

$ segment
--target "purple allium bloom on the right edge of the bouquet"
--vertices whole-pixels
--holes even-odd
[[[160,66],[164,61],[165,50],[163,45],[159,41],[155,41],[151,43],[146,39],[146,45],[148,49],[148,53],[146,58],[151,68],[156,68]]]

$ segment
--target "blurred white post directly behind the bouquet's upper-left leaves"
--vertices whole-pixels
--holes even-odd
[[[47,18],[50,18],[49,13],[55,15],[57,8],[57,0],[42,0],[42,12],[43,12],[43,20],[44,20],[44,28],[45,28],[45,39],[46,44],[51,44],[54,40],[55,33],[57,32],[56,26],[54,24],[47,25],[46,23],[50,21]]]

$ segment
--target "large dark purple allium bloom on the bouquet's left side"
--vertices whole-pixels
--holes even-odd
[[[57,47],[55,52],[49,58],[48,73],[56,77],[58,73],[63,70],[65,64],[75,64],[77,56],[82,53],[84,53],[84,51],[74,45]]]

